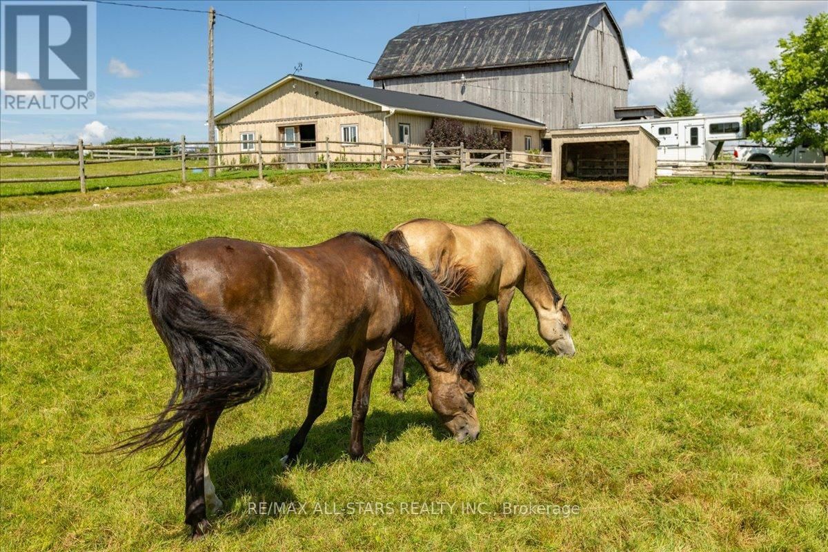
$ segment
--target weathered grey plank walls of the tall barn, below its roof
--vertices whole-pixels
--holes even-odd
[[[587,29],[571,62],[392,77],[374,86],[479,103],[551,129],[612,121],[614,108],[627,105],[623,46],[605,10],[590,18]]]

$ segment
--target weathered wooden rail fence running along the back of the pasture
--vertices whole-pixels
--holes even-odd
[[[76,145],[37,144],[28,142],[0,142],[0,154],[17,157],[32,157],[33,162],[8,162],[0,168],[13,168],[25,171],[35,167],[76,167],[76,175],[66,175],[65,170],[59,175],[43,177],[40,175],[23,175],[19,178],[3,178],[0,184],[23,184],[43,182],[79,183],[79,189],[86,191],[87,179],[128,178],[137,175],[155,175],[167,172],[181,173],[181,182],[187,180],[188,171],[205,170],[203,161],[220,170],[257,170],[258,177],[264,176],[265,168],[280,170],[325,169],[378,166],[382,169],[401,168],[407,170],[412,166],[431,168],[459,169],[461,172],[503,172],[518,170],[550,175],[553,159],[550,153],[529,153],[526,151],[474,150],[460,146],[442,147],[434,144],[388,145],[378,142],[336,142],[329,139],[322,141],[266,140],[261,136],[253,141],[214,142],[218,147],[215,153],[209,153],[208,142],[187,142],[181,137],[180,142],[128,143],[117,145],[94,146],[79,140]],[[67,158],[65,161],[37,161],[40,157],[56,156]],[[71,156],[71,158],[69,158]],[[268,159],[269,157],[269,159]],[[132,161],[146,163],[142,170],[123,170],[117,173],[100,173],[95,171],[88,175],[89,166]],[[153,162],[175,161],[169,167],[152,166]],[[196,161],[202,161],[197,164]],[[604,160],[590,161],[599,170]],[[613,161],[614,162],[614,161]],[[658,161],[657,175],[676,175],[690,178],[717,178],[726,180],[774,180],[781,182],[828,184],[828,164],[826,163],[769,163],[751,161]]]

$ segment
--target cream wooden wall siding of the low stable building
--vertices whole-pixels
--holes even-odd
[[[355,124],[359,127],[359,142],[383,142],[383,117],[388,112],[383,112],[374,103],[365,102],[357,98],[351,98],[333,90],[324,89],[313,84],[300,80],[293,80],[272,92],[257,98],[248,105],[229,113],[219,122],[219,142],[238,142],[243,132],[253,132],[256,137],[260,134],[262,140],[282,140],[279,127],[301,126],[303,124],[315,124],[316,142],[320,149],[324,147],[325,138],[332,142],[341,140],[340,128],[342,125]],[[397,112],[388,117],[388,132],[385,132],[385,143],[388,145],[397,143],[397,128],[399,123],[411,125],[411,143],[424,145],[426,131],[431,128],[434,117],[415,113]],[[541,129],[511,127],[506,123],[492,124],[488,122],[463,122],[466,132],[474,127],[484,127],[493,132],[505,130],[512,132],[513,143],[510,149],[514,151],[523,150],[525,136],[532,137],[532,147],[541,146]],[[359,146],[331,146],[331,151],[338,157],[350,160],[352,156],[347,154],[349,147]],[[280,149],[275,144],[262,147],[265,151]],[[360,147],[365,151],[365,147]],[[292,151],[292,150],[291,150]],[[223,144],[219,147],[222,153],[222,164],[236,162],[240,156],[255,155],[254,151],[241,151],[239,144]],[[267,154],[267,161],[272,161],[275,154]],[[368,161],[368,157],[353,157],[355,161]]]

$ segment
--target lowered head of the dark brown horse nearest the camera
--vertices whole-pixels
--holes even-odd
[[[474,391],[479,377],[474,358],[457,370],[435,372],[426,393],[428,404],[458,442],[473,441],[480,433]]]

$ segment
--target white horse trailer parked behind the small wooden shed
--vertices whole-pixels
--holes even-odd
[[[642,127],[658,139],[658,161],[710,161],[719,155],[724,142],[745,137],[739,113],[586,122],[579,127]]]

